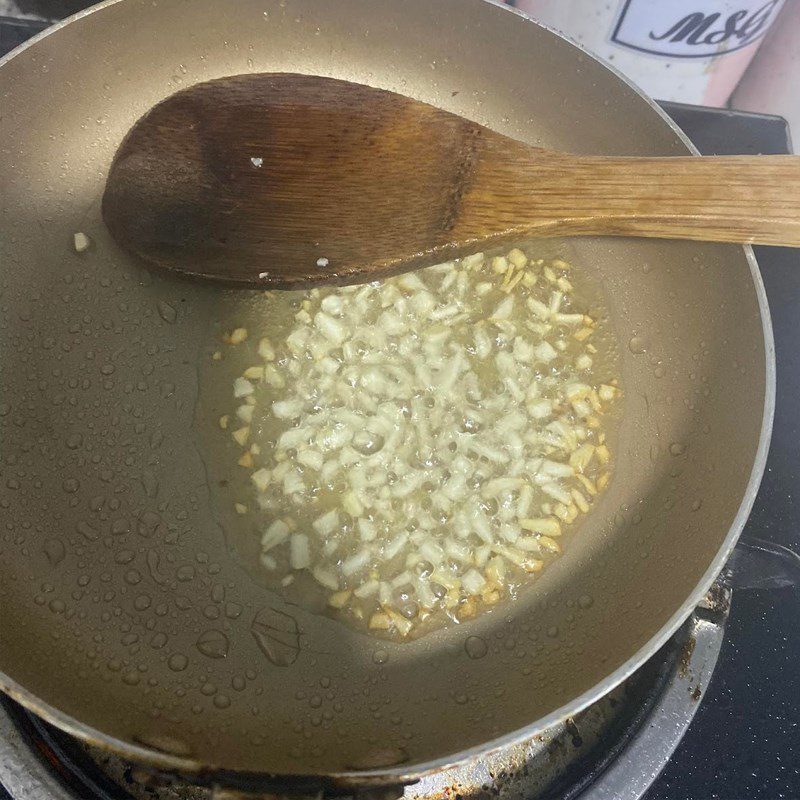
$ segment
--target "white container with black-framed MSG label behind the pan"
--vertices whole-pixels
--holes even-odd
[[[794,0],[797,2],[797,0]],[[785,0],[516,0],[658,100],[724,106]]]

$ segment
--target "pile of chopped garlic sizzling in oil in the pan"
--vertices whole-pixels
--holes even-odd
[[[619,389],[579,282],[560,259],[477,253],[306,292],[284,341],[226,334],[250,360],[220,427],[264,568],[308,571],[332,609],[401,637],[541,570],[609,480]]]

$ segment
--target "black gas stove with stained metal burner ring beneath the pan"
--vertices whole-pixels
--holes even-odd
[[[0,0],[0,55],[76,5],[86,3]],[[790,152],[780,118],[662,105],[705,154]],[[798,583],[800,560],[752,538],[800,550],[800,252],[761,247],[756,257],[775,329],[777,406],[745,531],[751,543],[732,576],[596,704],[513,748],[430,776],[406,789],[408,800],[800,798],[800,592],[789,586]],[[0,800],[234,797],[247,796],[155,775],[0,702]]]

